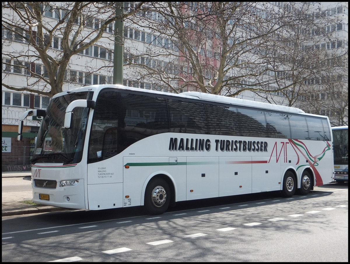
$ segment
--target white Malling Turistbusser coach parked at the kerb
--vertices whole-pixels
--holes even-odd
[[[31,115],[43,116],[31,160],[38,204],[161,214],[177,201],[307,194],[334,172],[328,118],[294,107],[92,85],[20,119]]]

